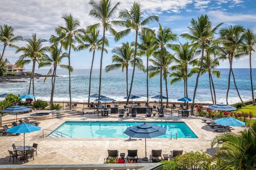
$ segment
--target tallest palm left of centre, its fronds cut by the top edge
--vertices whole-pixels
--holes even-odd
[[[100,80],[99,80],[99,89],[98,89],[98,97],[101,96],[101,70],[102,70],[102,59],[105,45],[105,32],[109,31],[111,34],[115,35],[116,31],[112,28],[111,24],[114,25],[122,25],[120,21],[110,21],[111,18],[114,17],[117,11],[117,7],[120,2],[116,3],[115,6],[112,6],[111,0],[99,0],[96,2],[95,0],[90,0],[89,4],[92,6],[92,9],[89,12],[89,15],[98,19],[100,23],[96,23],[94,25],[88,26],[88,29],[97,29],[100,25],[103,27],[103,37],[102,37],[102,48],[101,48],[101,63],[100,63]],[[97,107],[98,109],[98,107]]]

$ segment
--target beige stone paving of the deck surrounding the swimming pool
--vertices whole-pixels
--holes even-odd
[[[43,129],[54,130],[65,121],[184,121],[198,138],[152,138],[147,139],[147,156],[149,157],[151,150],[162,150],[162,154],[169,154],[171,150],[207,150],[210,149],[210,142],[215,135],[210,127],[202,123],[199,117],[178,118],[177,115],[165,115],[160,117],[145,117],[145,115],[137,115],[137,117],[119,118],[117,115],[102,117],[101,115],[84,114],[75,115],[65,118],[54,118],[41,121],[40,127]],[[232,132],[237,133],[244,128],[235,127]],[[43,138],[43,131],[27,133],[25,144],[38,144],[37,156],[35,160],[29,161],[15,160],[14,164],[97,164],[104,163],[107,158],[107,150],[119,150],[119,153],[126,153],[127,150],[138,150],[139,162],[145,163],[141,158],[145,156],[144,139],[128,140],[128,138]],[[45,130],[45,133],[50,131]],[[23,145],[23,134],[0,136],[0,164],[12,164],[9,162],[8,150],[12,150],[12,144]]]

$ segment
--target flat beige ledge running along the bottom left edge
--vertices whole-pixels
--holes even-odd
[[[0,170],[163,170],[163,164],[149,163],[0,165]]]

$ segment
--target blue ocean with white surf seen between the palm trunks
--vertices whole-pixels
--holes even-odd
[[[217,96],[217,103],[226,103],[226,90],[228,82],[229,69],[218,69],[221,72],[220,78],[214,78],[214,86]],[[27,70],[30,71],[30,70]],[[36,73],[46,75],[48,69],[36,69]],[[74,69],[71,73],[71,95],[72,101],[86,102],[88,101],[89,91],[89,69]],[[251,87],[250,87],[250,69],[233,69],[235,74],[236,84],[240,92],[241,98],[244,101],[250,100]],[[128,70],[128,83],[131,81],[132,69]],[[54,93],[54,101],[68,101],[68,70],[58,69],[56,78],[56,86]],[[253,69],[253,85],[256,94],[256,69]],[[21,80],[21,79],[19,79]],[[29,79],[23,79],[27,83],[13,83],[13,84],[0,84],[0,94],[14,93],[25,94],[28,92]],[[35,79],[35,95],[44,100],[50,100],[51,96],[51,78],[48,78],[43,83],[44,78]],[[149,79],[149,100],[154,101],[150,97],[159,95],[160,92],[160,77]],[[92,70],[92,83],[91,94],[98,93],[99,82],[99,69]],[[102,72],[101,80],[101,95],[113,98],[116,101],[125,101],[126,96],[126,80],[125,72],[121,70],[110,71],[108,73]],[[184,82],[178,82],[170,85],[170,78],[168,78],[168,95],[169,101],[177,101],[177,99],[184,97]],[[188,97],[193,98],[193,90],[196,82],[196,75],[188,79]],[[141,96],[138,101],[146,101],[146,73],[139,70],[135,71],[134,84],[132,88],[133,95]],[[163,81],[163,95],[166,95],[165,82]],[[94,100],[93,98],[91,100]],[[239,102],[237,92],[231,77],[231,86],[229,90],[229,104]],[[199,85],[196,93],[196,102],[212,103],[211,92],[209,89],[208,74],[202,75],[199,78]]]

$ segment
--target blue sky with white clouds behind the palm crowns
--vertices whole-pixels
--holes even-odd
[[[112,0],[113,5],[118,0]],[[118,9],[130,9],[133,0],[121,0]],[[224,23],[222,27],[240,24],[244,28],[252,29],[256,33],[256,1],[255,0],[140,0],[143,6],[145,17],[157,15],[162,26],[170,27],[178,35],[188,32],[188,26],[192,18],[197,19],[201,14],[207,14],[216,26]],[[80,20],[80,27],[98,23],[89,16],[91,6],[89,0],[1,0],[0,25],[8,24],[14,28],[15,35],[30,37],[36,33],[38,37],[49,39],[55,35],[54,29],[64,23],[61,18],[63,14],[72,14],[73,17]],[[118,12],[113,19],[118,17]],[[158,23],[152,23],[149,28],[157,29]],[[121,31],[125,28],[116,28]],[[110,46],[107,47],[108,54],[103,56],[103,68],[112,63],[111,50],[119,47],[122,42],[132,42],[135,40],[134,32],[131,35],[122,38],[118,42],[113,40],[113,35],[106,33]],[[216,35],[218,37],[218,35]],[[185,43],[186,40],[179,37],[179,41]],[[173,42],[173,43],[179,43]],[[18,46],[24,46],[24,42],[15,43]],[[48,46],[45,43],[45,46]],[[3,45],[0,45],[2,53]],[[171,51],[170,51],[171,52]],[[15,54],[14,49],[6,48],[3,58],[8,58],[10,63],[15,63],[22,53]],[[88,50],[74,52],[71,51],[71,66],[74,69],[89,69],[91,66],[92,53]],[[143,58],[146,63],[146,58]],[[68,61],[63,61],[67,64]],[[255,68],[256,54],[252,55],[252,66]],[[95,53],[94,69],[100,67],[100,52]],[[32,64],[26,65],[26,69],[31,69]],[[220,62],[220,68],[229,68],[228,61]],[[249,68],[249,57],[246,56],[239,61],[233,62],[233,68]]]

